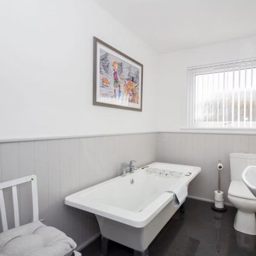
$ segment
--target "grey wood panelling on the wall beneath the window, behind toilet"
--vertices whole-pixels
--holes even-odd
[[[230,184],[229,154],[256,153],[256,135],[160,133],[157,160],[200,166],[202,172],[189,186],[189,196],[212,201],[218,189],[217,163],[221,159],[221,190],[226,203]]]

